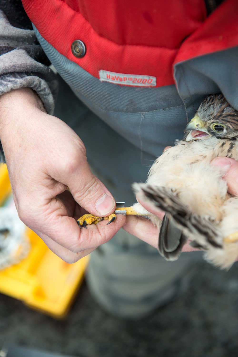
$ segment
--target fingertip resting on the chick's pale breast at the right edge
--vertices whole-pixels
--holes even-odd
[[[224,180],[227,182],[228,192],[238,196],[238,162],[229,157],[216,157],[211,165],[219,167]]]

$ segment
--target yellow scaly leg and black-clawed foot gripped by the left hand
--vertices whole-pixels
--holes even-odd
[[[125,212],[119,213],[118,211],[125,211]],[[90,213],[87,213],[86,215],[79,217],[77,223],[80,228],[82,228],[81,226],[86,228],[86,225],[88,226],[91,224],[97,224],[98,222],[106,221],[106,220],[109,220],[107,224],[112,223],[117,218],[117,214],[141,216],[141,214],[138,214],[133,207],[120,207],[117,208],[115,212],[107,217],[98,217],[98,216],[91,215]]]

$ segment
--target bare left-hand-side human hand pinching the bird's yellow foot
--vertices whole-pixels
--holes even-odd
[[[120,215],[108,226],[102,221],[79,228],[78,217],[108,216],[115,200],[90,171],[77,134],[46,114],[31,89],[0,97],[0,139],[20,219],[63,260],[76,262],[123,226]]]

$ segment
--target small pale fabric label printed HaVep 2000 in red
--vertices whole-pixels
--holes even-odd
[[[99,71],[100,81],[110,82],[114,84],[126,84],[136,87],[154,87],[156,86],[156,77],[143,76],[135,74],[124,74],[104,71],[101,69]]]

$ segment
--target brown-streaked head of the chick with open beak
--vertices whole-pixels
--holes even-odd
[[[193,119],[186,125],[186,141],[215,136],[230,139],[238,136],[238,111],[234,109],[222,94],[206,97]]]

